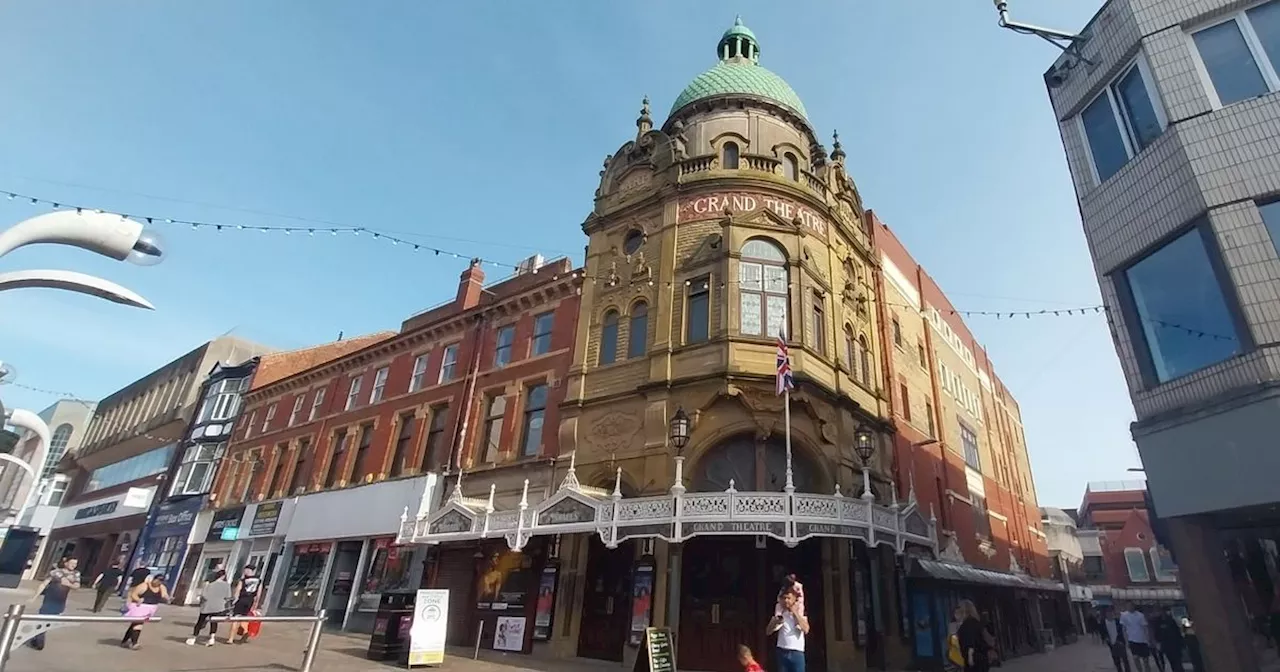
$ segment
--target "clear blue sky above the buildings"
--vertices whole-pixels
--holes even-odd
[[[1015,3],[1083,27],[1100,1]],[[1057,51],[988,0],[541,3],[10,0],[0,12],[0,189],[116,212],[398,232],[500,261],[581,259],[600,163],[658,123],[741,14],[762,63],[865,204],[959,308],[1098,303],[1043,82]],[[0,225],[45,211],[0,200]],[[0,296],[19,383],[97,398],[228,332],[280,347],[394,329],[449,298],[465,260],[370,237],[163,229],[133,268],[58,247],[147,314],[46,291]],[[490,273],[494,278],[498,273]],[[1105,319],[968,320],[1024,413],[1042,504],[1138,463]],[[13,385],[9,406],[55,397]]]

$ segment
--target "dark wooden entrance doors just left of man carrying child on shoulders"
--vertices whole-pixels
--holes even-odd
[[[681,564],[681,669],[739,672],[737,646],[764,645],[763,553],[753,538],[703,536],[685,543]],[[767,658],[762,657],[762,660]]]

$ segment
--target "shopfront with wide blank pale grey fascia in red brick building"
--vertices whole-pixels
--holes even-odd
[[[421,582],[425,549],[398,545],[396,536],[404,511],[433,500],[435,484],[429,474],[297,498],[274,605],[323,608],[334,627],[371,631],[384,593],[411,593]]]

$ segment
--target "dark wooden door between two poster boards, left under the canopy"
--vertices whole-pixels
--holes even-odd
[[[631,626],[628,617],[635,549],[630,541],[623,541],[609,550],[596,535],[593,534],[590,539],[577,654],[621,663],[622,645]]]

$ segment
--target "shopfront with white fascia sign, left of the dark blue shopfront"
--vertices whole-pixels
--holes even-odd
[[[79,562],[87,581],[111,566],[127,562],[147,522],[147,509],[156,488],[129,488],[100,499],[67,504],[58,509],[50,526],[51,553],[45,557],[42,573],[63,558]]]

